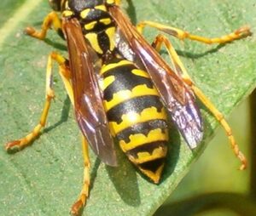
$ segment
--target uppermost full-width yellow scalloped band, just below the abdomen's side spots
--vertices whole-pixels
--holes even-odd
[[[107,87],[103,87],[102,90],[105,90]],[[113,106],[119,105],[127,99],[136,98],[144,95],[159,95],[155,88],[148,88],[146,84],[138,85],[132,90],[121,90],[113,94],[113,99],[110,101],[104,100],[103,104],[106,111],[109,111]]]

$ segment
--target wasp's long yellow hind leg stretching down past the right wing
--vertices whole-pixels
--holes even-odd
[[[157,36],[154,40],[153,47],[157,50],[160,50],[160,46],[162,43],[164,43],[167,52],[170,55],[172,65],[174,66],[175,69],[174,71],[177,73],[177,75],[182,77],[183,81],[193,90],[194,94],[198,97],[198,99],[200,99],[201,102],[207,107],[207,109],[212,112],[212,115],[218,120],[218,122],[220,122],[220,124],[224,128],[224,131],[226,132],[230,140],[232,150],[234,151],[238,159],[241,161],[240,170],[247,168],[247,159],[239,150],[239,146],[236,144],[236,139],[232,134],[230,125],[224,119],[223,114],[220,111],[218,111],[218,109],[212,104],[212,102],[209,99],[207,99],[207,96],[202,93],[201,89],[195,86],[195,83],[189,77],[188,72],[186,71],[175,49],[172,47],[172,43],[168,40],[167,37],[163,35]]]

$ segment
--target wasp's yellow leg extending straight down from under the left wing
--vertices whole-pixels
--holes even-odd
[[[86,200],[89,195],[89,188],[90,188],[90,158],[89,158],[89,151],[88,151],[88,142],[84,136],[82,138],[82,146],[83,146],[83,156],[84,156],[84,180],[83,180],[83,187],[80,192],[79,198],[73,204],[73,207],[71,208],[71,211],[70,211],[71,215],[73,216],[77,216],[82,213]]]

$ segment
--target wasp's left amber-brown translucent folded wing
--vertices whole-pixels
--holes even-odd
[[[102,105],[98,86],[94,56],[86,46],[79,21],[63,20],[67,38],[69,65],[73,85],[74,108],[77,122],[90,147],[102,162],[116,166],[117,160],[108,120]]]

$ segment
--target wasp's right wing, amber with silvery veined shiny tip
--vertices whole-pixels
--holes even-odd
[[[118,6],[110,7],[109,13],[132,52],[148,71],[167,110],[171,113],[172,121],[177,125],[189,147],[195,148],[202,139],[203,126],[193,92],[148,44]],[[125,50],[125,54],[132,52]]]

